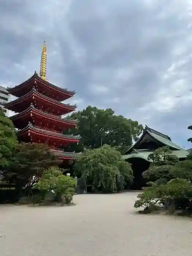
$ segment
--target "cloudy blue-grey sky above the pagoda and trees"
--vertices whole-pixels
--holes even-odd
[[[0,1],[0,85],[39,72],[78,110],[112,108],[192,147],[191,0]]]

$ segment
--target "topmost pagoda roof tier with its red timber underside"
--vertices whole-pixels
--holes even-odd
[[[71,98],[75,91],[69,91],[67,89],[60,88],[47,80],[42,79],[35,71],[34,75],[29,79],[16,85],[15,87],[7,87],[7,91],[15,97],[22,97],[24,94],[29,93],[35,87],[39,93],[42,93],[48,97],[52,97],[58,101],[64,101]]]

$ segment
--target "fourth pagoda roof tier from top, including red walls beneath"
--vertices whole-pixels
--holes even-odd
[[[42,129],[40,127],[35,127],[31,123],[27,127],[18,131],[18,137],[20,140],[30,139],[35,143],[46,143],[49,146],[65,146],[69,143],[78,143],[80,135],[64,135],[56,131],[50,131],[48,129]]]

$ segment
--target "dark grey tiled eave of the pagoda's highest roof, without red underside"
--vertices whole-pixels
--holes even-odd
[[[26,83],[30,82],[30,80],[34,79],[34,78],[37,78],[39,79],[42,83],[48,85],[48,86],[51,86],[53,89],[55,88],[56,90],[59,90],[61,93],[64,93],[64,94],[68,94],[69,96],[73,96],[75,94],[75,91],[69,91],[67,89],[62,89],[60,88],[59,86],[56,86],[48,81],[45,81],[44,79],[42,79],[40,76],[38,76],[37,72],[35,71],[34,75],[32,75],[29,79],[25,80],[24,82],[10,88],[10,87],[7,87],[7,91],[14,95],[14,91],[18,90],[19,87],[25,85]]]

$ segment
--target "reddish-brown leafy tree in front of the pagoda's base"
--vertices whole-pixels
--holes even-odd
[[[26,187],[31,191],[44,170],[57,166],[60,162],[46,144],[20,143],[16,146],[10,168],[4,173],[4,177],[16,184],[18,189]]]

